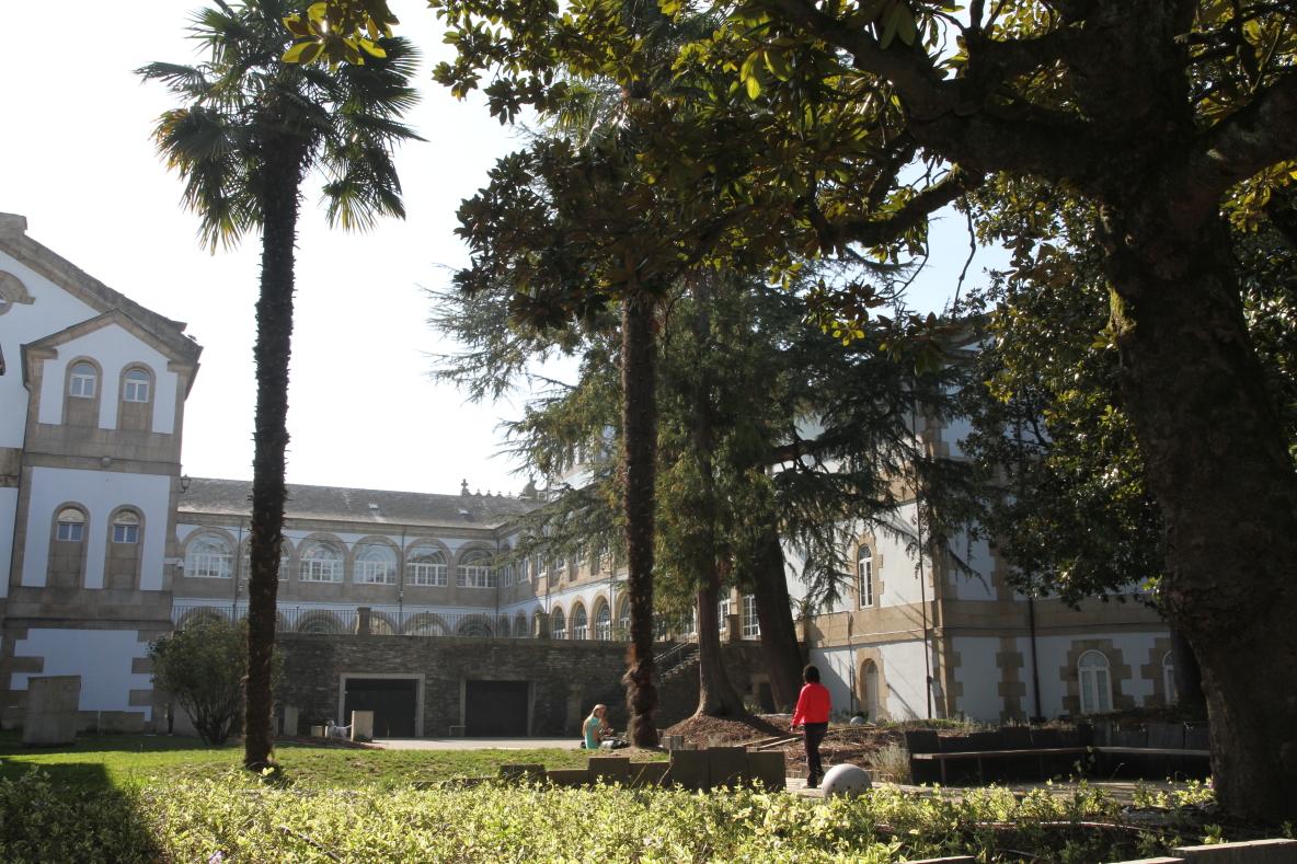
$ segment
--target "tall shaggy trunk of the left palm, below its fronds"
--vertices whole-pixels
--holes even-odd
[[[293,254],[301,148],[271,141],[265,152],[261,296],[257,300],[257,419],[252,480],[248,580],[248,678],[244,690],[244,765],[271,764],[271,672],[275,595],[283,542],[284,451],[288,448],[288,359],[293,333]]]

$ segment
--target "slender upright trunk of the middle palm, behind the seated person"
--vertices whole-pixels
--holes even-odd
[[[630,666],[624,681],[630,741],[637,747],[658,746],[652,716],[658,707],[652,658],[654,483],[658,458],[652,328],[652,298],[629,294],[621,307],[623,486],[626,594],[630,603]]]

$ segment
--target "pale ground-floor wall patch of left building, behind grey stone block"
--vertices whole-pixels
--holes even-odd
[[[131,706],[131,690],[150,690],[150,676],[131,672],[131,660],[148,656],[148,643],[135,630],[29,629],[27,638],[14,643],[14,656],[43,656],[40,672],[16,672],[9,688],[26,690],[27,678],[47,675],[79,675],[82,711],[143,711]]]

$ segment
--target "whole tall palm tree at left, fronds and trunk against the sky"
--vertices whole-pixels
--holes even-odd
[[[392,150],[416,139],[401,117],[418,96],[409,86],[416,56],[402,39],[380,42],[385,57],[364,65],[281,62],[293,36],[283,26],[301,3],[248,0],[197,13],[193,38],[208,51],[196,66],[149,64],[137,70],[183,101],[162,114],[153,138],[167,167],[185,182],[205,245],[233,245],[261,230],[257,301],[256,455],[252,575],[248,586],[248,682],[244,764],[270,764],[271,656],[284,524],[288,445],[288,359],[293,330],[293,254],[301,187],[323,178],[328,221],[364,230],[377,217],[405,215]]]

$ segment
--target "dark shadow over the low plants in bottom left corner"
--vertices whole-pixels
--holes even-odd
[[[102,764],[0,759],[0,861],[165,860],[141,797],[114,789]]]

